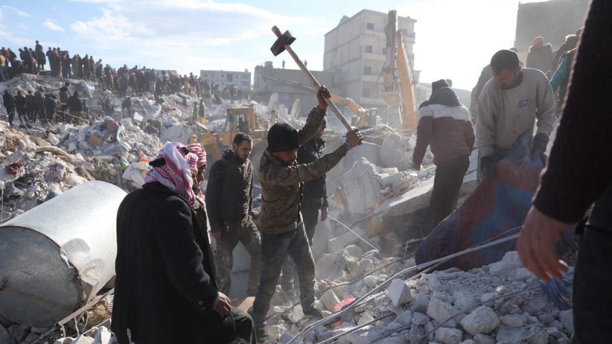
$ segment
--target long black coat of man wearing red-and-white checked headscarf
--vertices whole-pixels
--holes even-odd
[[[119,343],[226,343],[206,212],[159,182],[125,196],[117,214],[111,329]],[[231,317],[230,317],[231,318]]]

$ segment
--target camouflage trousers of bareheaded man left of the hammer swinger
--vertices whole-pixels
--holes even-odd
[[[221,237],[217,239],[217,284],[219,291],[230,295],[231,270],[234,266],[234,248],[242,242],[248,254],[251,255],[251,268],[248,273],[247,296],[255,296],[259,277],[261,277],[261,235],[253,221],[244,223],[228,223],[229,230],[223,228]]]

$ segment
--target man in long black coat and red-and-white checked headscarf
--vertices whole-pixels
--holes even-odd
[[[252,319],[215,281],[198,198],[206,153],[166,143],[151,165],[143,189],[125,196],[117,214],[111,329],[119,344],[255,343]]]

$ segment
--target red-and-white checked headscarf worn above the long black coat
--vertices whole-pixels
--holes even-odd
[[[159,155],[155,157],[155,160],[163,158],[166,163],[149,170],[145,183],[160,182],[172,192],[185,198],[193,206],[195,194],[192,189],[192,174],[198,170],[200,157],[193,153],[191,149],[185,154],[184,148],[188,147],[178,142],[166,142]],[[206,158],[204,157],[204,159]]]

